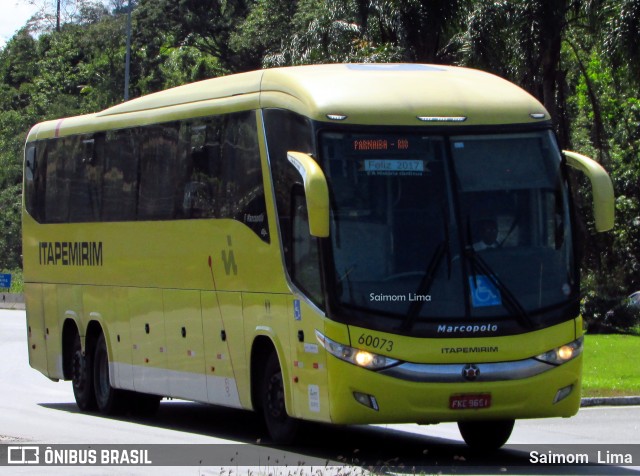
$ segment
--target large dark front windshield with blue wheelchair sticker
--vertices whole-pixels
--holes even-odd
[[[548,131],[321,134],[338,310],[425,321],[535,316],[574,299],[568,193]]]

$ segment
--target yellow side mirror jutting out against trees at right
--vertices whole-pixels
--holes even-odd
[[[567,164],[585,174],[591,181],[596,230],[600,232],[611,230],[615,220],[615,197],[611,178],[595,160],[567,150],[562,152],[567,159]]]

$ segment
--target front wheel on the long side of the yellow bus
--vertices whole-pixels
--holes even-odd
[[[276,352],[271,352],[265,366],[261,391],[262,412],[271,439],[278,444],[291,444],[300,421],[287,414],[282,369]]]

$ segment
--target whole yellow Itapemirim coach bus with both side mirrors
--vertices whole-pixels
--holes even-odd
[[[458,422],[499,447],[580,402],[567,165],[493,75],[346,64],[216,78],[33,127],[29,360],[82,410],[162,397],[303,420]]]

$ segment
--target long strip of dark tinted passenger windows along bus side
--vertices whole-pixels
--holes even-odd
[[[41,223],[232,218],[268,242],[255,112],[30,144]]]

